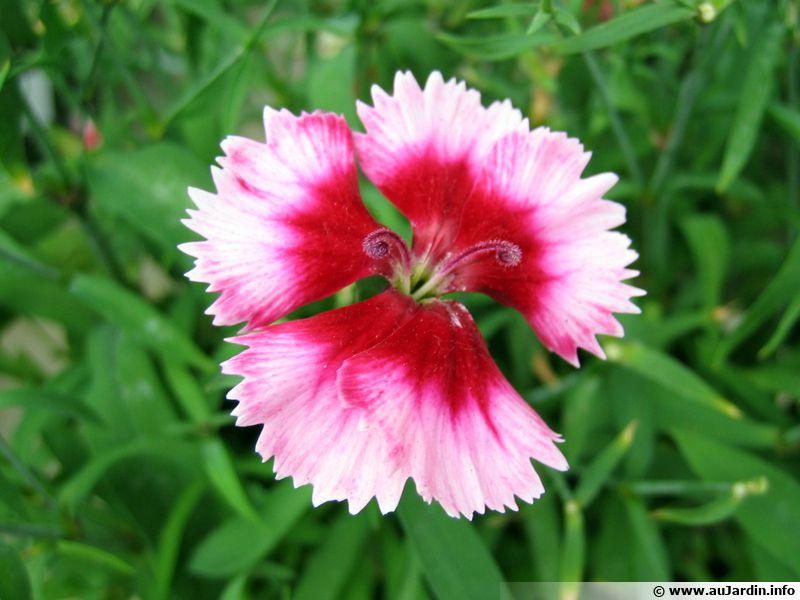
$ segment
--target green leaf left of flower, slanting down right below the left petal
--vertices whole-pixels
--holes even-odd
[[[167,359],[179,359],[216,371],[216,364],[164,315],[113,281],[94,275],[77,275],[70,284],[70,291],[154,352]]]

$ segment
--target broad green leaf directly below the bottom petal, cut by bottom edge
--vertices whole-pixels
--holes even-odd
[[[404,494],[398,516],[439,600],[509,597],[505,578],[471,523],[412,493]]]

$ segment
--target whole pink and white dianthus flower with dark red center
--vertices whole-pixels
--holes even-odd
[[[438,72],[421,89],[398,73],[394,94],[358,104],[366,133],[340,116],[265,111],[266,144],[229,137],[216,194],[191,189],[186,225],[203,241],[193,281],[219,292],[217,325],[246,323],[247,347],[223,364],[243,377],[228,397],[277,477],[313,484],[313,502],[371,498],[385,513],[411,478],[430,502],[471,518],[516,509],[544,491],[532,459],[567,463],[560,437],[506,381],[467,309],[474,291],[519,310],[542,343],[575,366],[612,313],[638,312],[630,240],[609,231],[625,211],[603,194],[613,174],[581,179],[574,139],[530,131],[508,101]],[[355,156],[409,219],[413,244],[377,223],[359,196]],[[273,325],[299,306],[382,275],[387,291]]]

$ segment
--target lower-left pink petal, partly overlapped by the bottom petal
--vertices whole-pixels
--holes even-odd
[[[234,338],[248,349],[223,364],[244,380],[228,398],[238,400],[237,425],[263,425],[256,449],[275,457],[278,478],[314,485],[315,505],[349,500],[361,510],[375,496],[386,510],[400,498],[406,477],[387,459],[382,436],[365,431],[362,411],[340,402],[336,372],[342,362],[380,342],[413,311],[394,291]]]

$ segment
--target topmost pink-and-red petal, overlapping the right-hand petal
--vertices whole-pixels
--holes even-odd
[[[411,221],[417,255],[438,259],[458,229],[461,209],[492,144],[527,120],[509,101],[481,105],[464,82],[434,71],[424,89],[398,73],[394,95],[372,88],[375,106],[358,103],[367,133],[355,134],[361,167]]]

